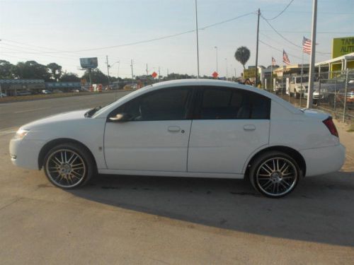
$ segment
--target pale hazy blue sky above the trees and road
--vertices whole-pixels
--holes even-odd
[[[282,49],[291,64],[301,64],[302,37],[311,37],[312,0],[294,0],[278,16],[289,3],[198,0],[200,75],[218,70],[219,76],[240,76],[243,66],[234,58],[240,46],[251,51],[246,66],[255,65],[258,8],[258,64],[268,66],[274,57],[282,65]],[[282,37],[265,20],[275,16],[268,23]],[[316,62],[331,59],[333,37],[354,36],[354,0],[318,0],[316,36]],[[195,0],[0,0],[0,40],[0,59],[56,62],[79,76],[81,57],[98,57],[107,74],[106,56],[110,75],[121,78],[131,77],[131,60],[135,76],[146,68],[149,74],[160,69],[161,76],[197,74]]]

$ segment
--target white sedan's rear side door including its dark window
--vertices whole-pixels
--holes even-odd
[[[198,102],[188,172],[241,174],[249,155],[268,144],[270,99],[248,90],[205,87]]]

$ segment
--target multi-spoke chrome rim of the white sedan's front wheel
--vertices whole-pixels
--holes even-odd
[[[50,154],[45,170],[48,177],[59,187],[71,188],[80,184],[86,174],[81,155],[70,149],[59,149]]]

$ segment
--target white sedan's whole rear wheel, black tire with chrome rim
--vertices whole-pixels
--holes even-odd
[[[269,198],[281,198],[290,194],[299,183],[300,176],[297,162],[290,155],[278,151],[259,155],[253,160],[249,171],[249,179],[254,189]]]

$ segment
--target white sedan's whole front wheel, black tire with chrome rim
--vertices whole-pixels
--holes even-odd
[[[50,182],[62,189],[82,187],[96,175],[91,153],[78,143],[62,143],[50,149],[43,169]]]

